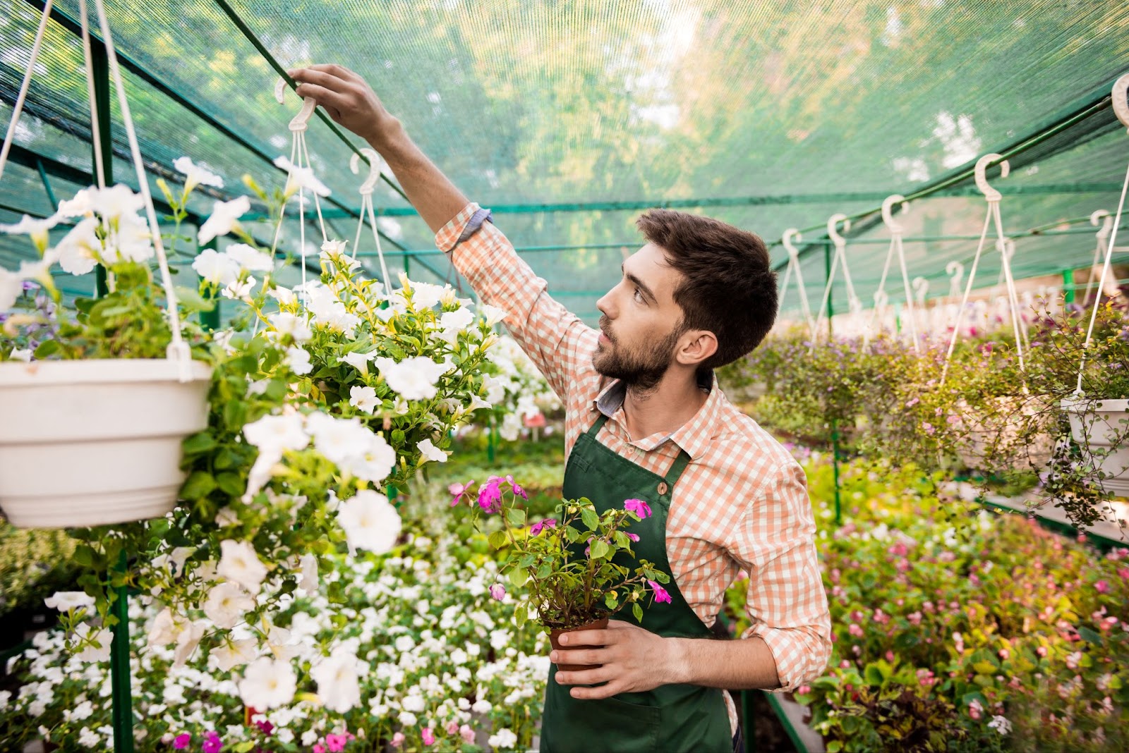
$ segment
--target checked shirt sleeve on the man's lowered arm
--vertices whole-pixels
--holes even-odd
[[[798,463],[767,475],[747,506],[730,553],[749,572],[742,638],[764,640],[780,686],[791,691],[819,677],[831,656],[831,614],[815,552],[815,517]]]

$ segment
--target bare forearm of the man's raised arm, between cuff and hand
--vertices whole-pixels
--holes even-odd
[[[438,232],[470,202],[435,163],[411,140],[403,125],[396,121],[382,139],[369,144],[385,159],[408,201],[423,221]]]

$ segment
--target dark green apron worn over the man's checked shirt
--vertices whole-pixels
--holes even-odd
[[[642,499],[651,515],[631,524],[639,535],[632,549],[636,557],[648,559],[671,574],[666,558],[666,517],[671,495],[690,457],[683,451],[666,477],[653,473],[615,454],[596,441],[607,422],[601,415],[577,440],[564,469],[566,499],[587,497],[603,513],[620,507],[624,499]],[[616,564],[634,568],[637,562],[621,552]],[[630,609],[615,619],[641,624],[664,636],[709,639],[710,631],[679,591],[671,574],[666,585],[671,603],[648,599],[642,621],[636,622]],[[660,685],[641,693],[620,693],[602,700],[578,700],[569,694],[571,685],[557,683],[557,665],[549,671],[545,712],[541,729],[543,753],[732,753],[733,735],[723,691],[700,685]]]

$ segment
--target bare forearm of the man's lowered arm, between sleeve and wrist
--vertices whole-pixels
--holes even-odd
[[[780,686],[772,650],[756,637],[739,640],[667,638],[672,682],[726,690]]]

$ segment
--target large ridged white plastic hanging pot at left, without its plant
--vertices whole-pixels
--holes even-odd
[[[208,426],[211,366],[172,360],[0,363],[0,507],[19,528],[158,517]]]

